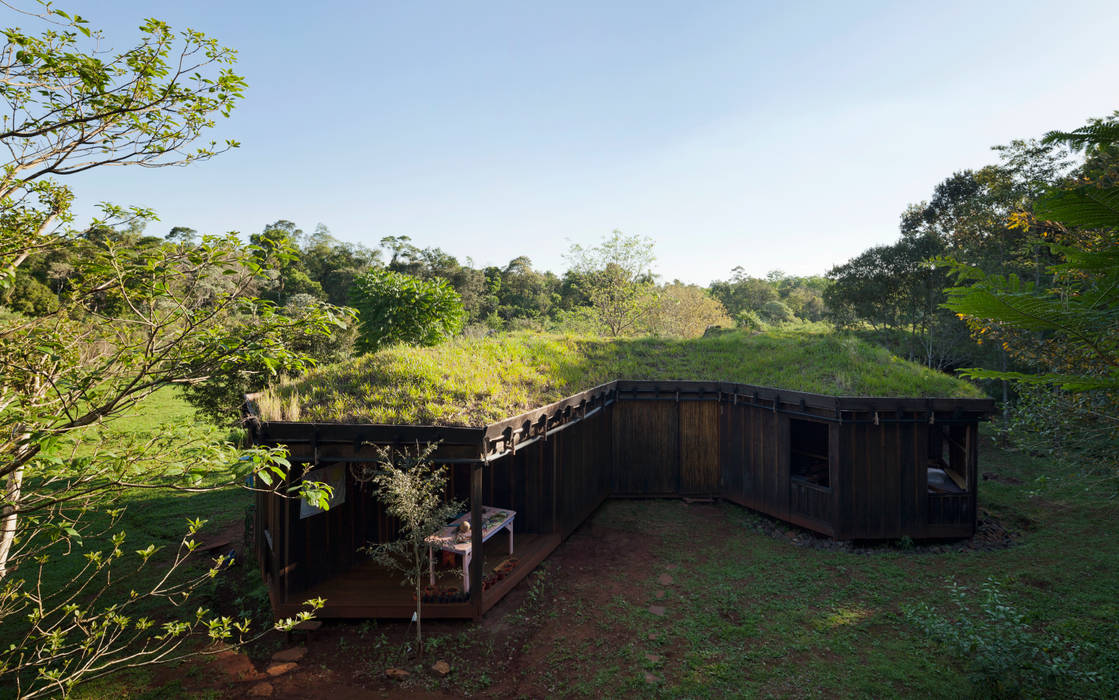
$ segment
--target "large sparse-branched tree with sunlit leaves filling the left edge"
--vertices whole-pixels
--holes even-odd
[[[6,29],[0,48],[0,283],[10,287],[32,256],[66,263],[56,309],[0,321],[0,623],[20,637],[0,650],[0,677],[22,697],[65,696],[83,679],[169,660],[191,633],[244,633],[205,609],[161,625],[133,614],[144,600],[181,604],[197,585],[172,576],[197,522],[166,576],[114,598],[121,566],[156,566],[154,550],[131,550],[112,524],[94,531],[88,514],[117,512],[122,489],[204,489],[216,473],[276,483],[282,453],[241,460],[232,445],[177,445],[175,435],[103,444],[94,429],[167,387],[219,381],[246,363],[298,368],[308,358],[285,346],[290,332],[327,333],[336,321],[329,309],[295,321],[248,294],[263,267],[234,238],[143,237],[150,212],[111,206],[84,233],[56,230],[72,200],[57,178],[187,164],[235,146],[190,144],[236,104],[244,82],[224,67],[234,53],[200,32],[177,36],[148,20],[137,46],[110,55],[97,53],[103,37],[84,19],[43,8],[28,16],[45,22],[41,34]],[[323,495],[316,485],[305,493]],[[58,558],[85,565],[45,589],[44,567]]]

